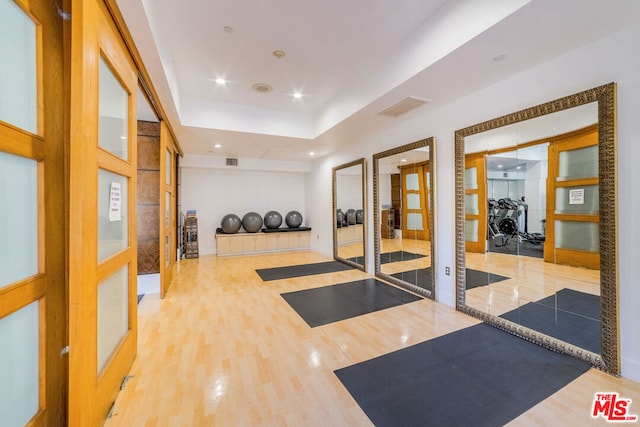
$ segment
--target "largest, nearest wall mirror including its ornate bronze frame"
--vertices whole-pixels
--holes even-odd
[[[616,86],[455,133],[457,308],[617,374]]]

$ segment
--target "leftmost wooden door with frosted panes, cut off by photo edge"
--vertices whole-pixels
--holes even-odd
[[[66,425],[63,20],[0,0],[0,425]]]

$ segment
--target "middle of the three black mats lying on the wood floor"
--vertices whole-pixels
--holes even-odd
[[[281,295],[312,328],[422,299],[373,278]]]

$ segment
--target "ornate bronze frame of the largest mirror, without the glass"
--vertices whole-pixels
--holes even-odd
[[[601,353],[596,354],[565,341],[529,329],[465,303],[465,137],[584,104],[598,104],[600,215],[600,311]],[[585,360],[612,374],[619,373],[617,182],[616,182],[616,84],[609,83],[545,104],[527,108],[455,132],[456,176],[456,308],[485,323],[535,342],[551,350]],[[601,209],[603,212],[604,209]]]

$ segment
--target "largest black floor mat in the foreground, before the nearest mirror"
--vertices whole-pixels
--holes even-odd
[[[502,426],[588,369],[479,324],[335,374],[376,426]]]

